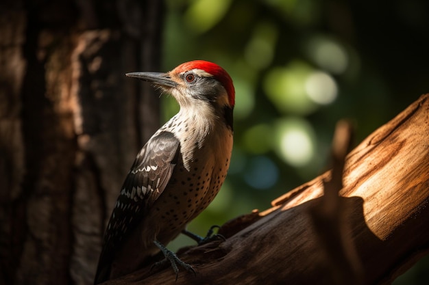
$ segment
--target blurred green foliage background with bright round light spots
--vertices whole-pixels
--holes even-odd
[[[236,87],[230,172],[216,200],[188,227],[201,235],[212,224],[269,208],[326,170],[341,118],[356,124],[358,144],[429,92],[426,0],[166,5],[164,70],[206,59],[228,70]],[[163,106],[164,120],[177,111],[167,96]],[[184,244],[192,241],[180,237],[173,247]],[[429,280],[418,272],[420,281],[397,284]]]

